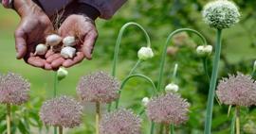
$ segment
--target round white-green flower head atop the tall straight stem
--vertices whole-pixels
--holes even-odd
[[[239,22],[237,6],[228,0],[215,0],[204,7],[204,21],[217,29],[229,28]]]

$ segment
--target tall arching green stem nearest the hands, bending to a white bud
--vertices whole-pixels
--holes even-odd
[[[118,60],[119,60],[119,48],[120,48],[121,39],[122,39],[125,29],[130,25],[135,25],[139,29],[141,29],[146,37],[147,46],[148,47],[151,46],[150,37],[149,37],[147,31],[141,25],[138,25],[137,23],[134,23],[134,22],[130,22],[130,23],[123,25],[119,30],[119,37],[118,37],[118,40],[115,45],[115,51],[114,51],[115,53],[114,53],[114,59],[113,59],[113,65],[112,65],[112,75],[113,76],[116,76],[116,74],[117,74],[117,64],[118,64]],[[110,111],[110,110],[111,110],[111,103],[108,105],[108,111]]]

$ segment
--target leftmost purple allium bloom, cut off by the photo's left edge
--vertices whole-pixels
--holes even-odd
[[[29,99],[30,83],[21,75],[0,75],[0,103],[21,105]]]

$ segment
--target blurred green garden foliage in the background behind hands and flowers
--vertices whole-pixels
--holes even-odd
[[[75,88],[82,75],[97,70],[110,72],[119,28],[130,21],[137,22],[145,27],[151,36],[152,47],[155,52],[155,57],[145,61],[143,65],[138,67],[137,72],[152,77],[156,82],[157,77],[155,75],[158,75],[161,48],[168,34],[175,29],[190,27],[198,30],[211,45],[214,45],[215,37],[213,35],[215,31],[205,25],[201,17],[202,7],[207,2],[207,0],[129,0],[110,21],[100,19],[97,21],[100,37],[95,47],[94,59],[91,61],[84,60],[81,64],[68,69],[69,75],[60,82],[58,91],[66,95],[75,96]],[[240,7],[243,16],[238,25],[224,32],[220,76],[235,74],[237,71],[251,74],[253,61],[256,59],[256,31],[253,28],[256,25],[256,12],[254,10],[256,1],[234,0],[234,2]],[[24,75],[31,82],[30,94],[32,101],[23,105],[24,107],[20,107],[20,110],[15,110],[16,112],[21,112],[20,114],[23,114],[23,118],[26,118],[30,112],[38,113],[42,102],[52,96],[53,89],[51,87],[53,87],[53,81],[51,79],[54,75],[51,72],[30,67],[22,60],[15,59],[12,35],[15,26],[18,24],[19,17],[13,11],[2,7],[0,7],[0,12],[0,72],[16,72]],[[142,46],[141,44],[145,44],[142,33],[136,31],[136,28],[128,28],[121,42],[117,70],[119,79],[123,79],[129,73],[130,68],[137,61],[137,50]],[[175,43],[174,46],[168,49],[169,58],[167,58],[163,85],[168,84],[168,77],[171,75],[170,70],[174,67],[174,63],[178,63],[179,73],[175,83],[179,85],[182,96],[188,98],[188,101],[192,104],[189,122],[184,126],[176,127],[175,130],[176,133],[182,134],[200,134],[203,133],[209,88],[209,80],[204,74],[201,58],[196,55],[195,51],[195,46],[200,41],[194,35],[182,33],[175,38],[173,43]],[[185,47],[181,47],[181,45],[185,45]],[[144,80],[131,80],[122,92],[119,105],[138,111],[141,97],[150,96],[150,90],[147,90],[150,88],[151,86]],[[33,103],[33,100],[38,100],[38,102]],[[84,118],[86,125],[71,129],[67,132],[68,134],[93,133],[94,108],[91,104],[84,105],[87,108]],[[91,109],[88,109],[88,107]],[[0,109],[0,118],[2,116],[5,117],[4,110],[2,110],[4,109],[3,106],[0,106]],[[228,118],[228,109],[228,107],[219,106],[215,102],[212,122],[213,134],[229,133],[231,116]],[[147,133],[150,125],[146,116],[143,116],[145,119],[143,126],[146,128],[143,133]],[[241,121],[243,133],[255,133],[253,131],[255,129],[253,126],[256,124],[255,107],[242,109],[241,116],[243,117]],[[39,126],[42,127],[38,114],[29,117],[35,119],[35,123],[38,122]],[[28,119],[26,118],[26,120]],[[23,122],[22,120],[20,121]],[[17,131],[19,129],[18,126],[22,126],[19,122],[13,123]],[[4,125],[4,120],[0,120],[0,131]],[[33,129],[36,127],[31,126],[31,131],[37,133],[37,130]],[[26,132],[23,131],[23,133]],[[44,133],[46,133],[45,128]]]

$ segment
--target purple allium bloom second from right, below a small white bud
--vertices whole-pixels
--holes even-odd
[[[180,125],[188,120],[190,104],[177,93],[153,98],[147,105],[147,115],[155,123]]]

